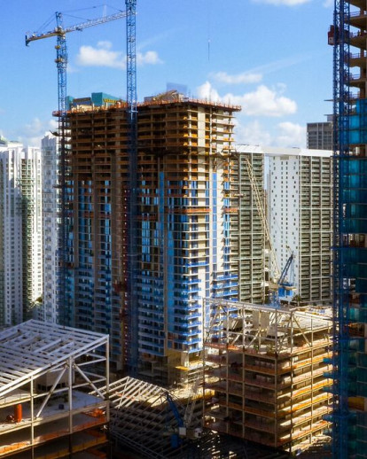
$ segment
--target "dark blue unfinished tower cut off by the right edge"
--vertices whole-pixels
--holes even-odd
[[[367,457],[367,8],[335,2],[333,457]]]

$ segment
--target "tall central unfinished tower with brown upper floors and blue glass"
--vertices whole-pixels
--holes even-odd
[[[238,297],[238,240],[231,236],[238,193],[230,154],[237,110],[176,91],[147,97],[137,106],[136,159],[129,159],[124,103],[76,105],[67,114],[62,320],[109,333],[116,370],[137,368],[154,381],[189,380],[202,348],[203,298]]]

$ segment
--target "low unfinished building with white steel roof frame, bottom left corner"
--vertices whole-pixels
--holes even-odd
[[[105,457],[108,362],[105,335],[34,320],[1,331],[0,457]]]

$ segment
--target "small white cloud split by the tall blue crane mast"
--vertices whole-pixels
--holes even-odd
[[[105,66],[112,68],[126,68],[126,56],[121,51],[113,51],[111,42],[98,42],[97,47],[83,45],[76,57],[80,66]],[[156,51],[137,52],[137,65],[144,66],[161,64]]]

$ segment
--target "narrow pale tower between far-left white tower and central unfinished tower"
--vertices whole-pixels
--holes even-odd
[[[44,136],[43,170],[43,320],[58,322],[59,265],[59,146],[58,137]]]

